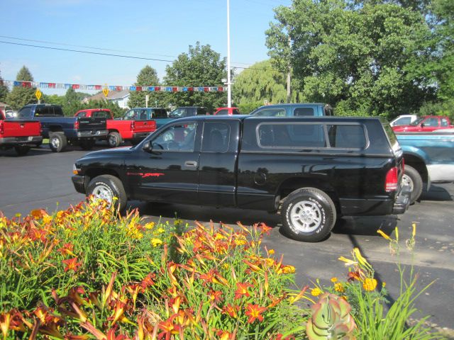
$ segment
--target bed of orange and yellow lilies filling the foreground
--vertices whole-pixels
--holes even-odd
[[[94,201],[54,215],[0,217],[1,332],[4,339],[384,339],[363,329],[381,324],[387,293],[357,249],[341,258],[350,266],[345,282],[294,290],[295,268],[260,246],[268,231],[146,223],[136,210],[120,217]],[[397,312],[411,305],[413,283],[406,292]],[[434,339],[423,337],[422,324],[394,324],[396,335],[410,329],[421,334],[411,339]]]

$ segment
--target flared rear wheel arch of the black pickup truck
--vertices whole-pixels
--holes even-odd
[[[277,189],[276,197],[277,203],[284,202],[285,198],[289,196],[295,190],[300,188],[317,188],[323,192],[325,192],[331,200],[333,200],[334,205],[336,205],[336,210],[340,215],[341,212],[341,205],[339,204],[339,198],[336,193],[335,188],[331,186],[330,183],[326,183],[326,181],[322,181],[320,179],[304,179],[304,178],[293,178],[293,179],[286,179],[283,181],[279,188]]]

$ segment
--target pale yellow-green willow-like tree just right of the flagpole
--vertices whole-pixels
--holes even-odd
[[[270,60],[253,64],[235,77],[233,100],[236,106],[247,113],[253,108],[267,103],[287,101],[286,74],[274,67]],[[299,100],[299,92],[292,93],[292,102]]]

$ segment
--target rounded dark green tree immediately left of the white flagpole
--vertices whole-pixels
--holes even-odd
[[[189,46],[189,51],[179,55],[165,72],[165,84],[169,86],[218,86],[227,78],[225,58],[221,59],[210,45],[200,45],[200,42]],[[221,91],[175,92],[168,96],[172,106],[204,106],[208,111],[227,102],[226,93]]]

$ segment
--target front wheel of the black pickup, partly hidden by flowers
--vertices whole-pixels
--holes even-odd
[[[126,192],[120,179],[111,175],[96,176],[90,181],[87,187],[87,196],[93,195],[96,198],[102,198],[111,203],[114,197],[114,207],[123,210],[126,207]]]

